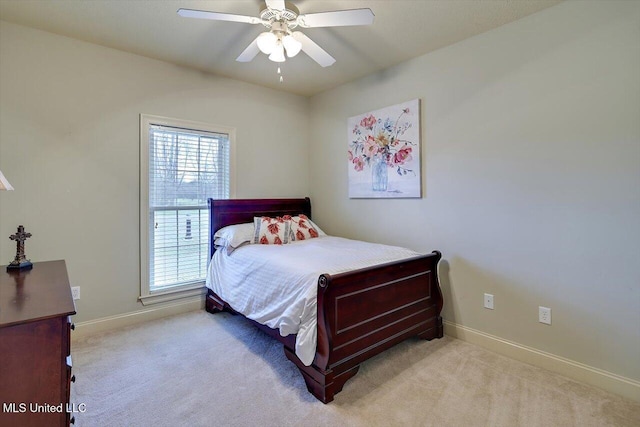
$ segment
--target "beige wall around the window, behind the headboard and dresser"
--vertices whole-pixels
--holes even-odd
[[[6,22],[0,77],[0,264],[24,224],[31,260],[81,286],[76,322],[142,308],[141,113],[235,127],[237,197],[308,194],[307,98]]]

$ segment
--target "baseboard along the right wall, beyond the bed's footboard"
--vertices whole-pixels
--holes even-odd
[[[444,333],[488,350],[547,369],[576,381],[640,402],[640,381],[616,375],[551,353],[536,350],[447,320]]]

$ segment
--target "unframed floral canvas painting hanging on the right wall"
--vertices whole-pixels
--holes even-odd
[[[349,197],[421,197],[420,100],[350,117]]]

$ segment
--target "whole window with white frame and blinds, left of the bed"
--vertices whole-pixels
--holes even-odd
[[[207,198],[231,196],[234,130],[140,116],[143,304],[199,295],[207,274]]]

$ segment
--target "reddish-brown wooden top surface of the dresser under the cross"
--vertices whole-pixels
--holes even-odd
[[[0,267],[0,328],[76,314],[64,261],[35,262],[31,270]]]

